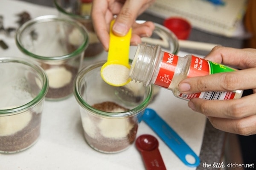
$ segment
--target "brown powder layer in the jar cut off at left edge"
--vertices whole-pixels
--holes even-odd
[[[0,152],[18,152],[32,145],[40,135],[41,113],[32,113],[32,119],[22,130],[9,135],[0,136]]]

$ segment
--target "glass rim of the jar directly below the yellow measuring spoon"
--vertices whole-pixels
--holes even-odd
[[[125,116],[133,116],[133,115],[135,115],[137,113],[140,113],[151,102],[151,99],[153,97],[152,85],[148,85],[148,86],[145,87],[147,96],[145,97],[143,102],[141,102],[135,108],[132,108],[131,110],[125,111],[125,112],[113,113],[113,112],[100,111],[100,110],[98,110],[96,108],[93,108],[86,101],[84,101],[83,97],[79,93],[79,88],[78,88],[78,85],[79,85],[79,83],[82,80],[82,77],[84,77],[85,74],[87,74],[88,72],[92,71],[93,69],[101,67],[105,62],[106,61],[96,62],[93,65],[89,65],[89,66],[83,68],[77,74],[77,76],[76,76],[76,78],[74,80],[74,83],[73,83],[73,93],[74,93],[74,96],[75,96],[76,100],[78,101],[79,105],[82,108],[86,108],[87,110],[91,111],[93,114],[97,114],[97,115],[100,115],[100,116],[108,116],[108,117],[112,117],[112,118],[114,118],[114,117],[121,118],[121,117],[125,117]],[[131,63],[131,59],[129,59],[129,62]],[[136,111],[136,112],[134,112],[134,111]]]

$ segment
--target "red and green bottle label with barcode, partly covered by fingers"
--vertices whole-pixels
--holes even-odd
[[[211,62],[202,58],[192,56],[191,65],[187,77],[205,76],[209,74],[230,71],[235,71],[235,69],[225,65],[218,64],[216,62]],[[180,94],[180,97],[184,99],[201,98],[207,100],[227,100],[233,99],[235,94],[235,92],[206,91],[196,94]]]

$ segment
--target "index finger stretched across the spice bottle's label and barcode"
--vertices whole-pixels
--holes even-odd
[[[181,93],[192,94],[202,91],[235,91],[256,88],[256,68],[217,73],[201,77],[190,77],[180,81]]]

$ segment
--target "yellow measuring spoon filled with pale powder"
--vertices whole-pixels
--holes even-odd
[[[113,34],[112,26],[115,20],[110,24],[110,42],[108,49],[108,60],[102,65],[101,77],[109,85],[122,86],[131,81],[129,78],[129,48],[131,40],[131,29],[124,37]]]

